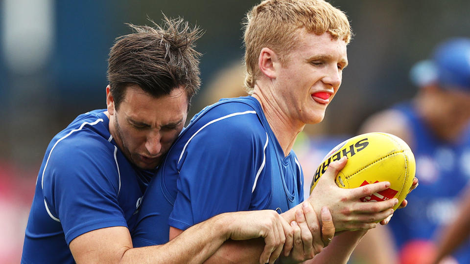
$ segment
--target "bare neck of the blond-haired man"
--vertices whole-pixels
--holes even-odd
[[[261,105],[266,120],[281,145],[284,156],[287,156],[292,150],[297,135],[304,129],[305,124],[293,122],[287,111],[284,111],[285,106],[281,105],[269,91],[262,92],[258,87],[255,87],[252,96]]]

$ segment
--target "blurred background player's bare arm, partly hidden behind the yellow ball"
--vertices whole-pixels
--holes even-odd
[[[386,132],[403,139],[409,146],[414,144],[407,129],[406,119],[395,110],[385,110],[369,117],[359,133]],[[364,264],[397,264],[398,250],[391,229],[377,226],[367,232],[354,251],[354,258]]]

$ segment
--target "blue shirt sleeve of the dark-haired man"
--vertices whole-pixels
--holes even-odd
[[[118,204],[117,165],[112,150],[103,143],[57,143],[42,184],[46,209],[52,219],[60,221],[67,243],[95,229],[127,227]]]

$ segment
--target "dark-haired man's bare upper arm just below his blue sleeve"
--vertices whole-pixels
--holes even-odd
[[[118,263],[132,240],[127,227],[113,226],[82,234],[69,247],[76,263]]]

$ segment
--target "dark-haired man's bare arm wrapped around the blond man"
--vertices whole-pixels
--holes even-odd
[[[132,247],[126,227],[97,229],[70,243],[76,263],[203,263],[228,239],[259,238],[265,246],[257,263],[267,263],[271,253],[283,246],[284,232],[292,228],[276,211],[263,210],[217,215],[188,228],[164,245]],[[292,247],[292,237],[290,237]],[[290,249],[289,249],[290,250]]]

